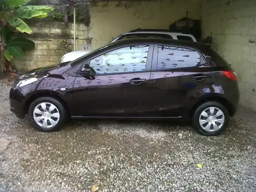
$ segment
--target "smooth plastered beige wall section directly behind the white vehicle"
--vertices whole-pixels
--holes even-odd
[[[168,29],[175,20],[200,18],[201,0],[153,0],[90,4],[92,47],[137,28]]]

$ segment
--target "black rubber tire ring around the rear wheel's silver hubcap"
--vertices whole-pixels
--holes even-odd
[[[216,108],[220,109],[223,112],[224,116],[225,116],[223,125],[217,131],[205,131],[199,123],[199,118],[200,118],[201,113],[204,110],[206,110],[207,108],[210,108],[210,107],[216,107]],[[206,103],[201,104],[196,109],[196,111],[194,113],[194,116],[193,116],[193,126],[202,135],[217,136],[217,135],[220,135],[227,128],[227,126],[229,124],[229,119],[230,118],[229,118],[228,110],[223,104],[221,104],[219,102],[216,102],[216,101],[210,101],[210,102],[206,102]],[[205,126],[205,125],[203,125],[203,126]]]

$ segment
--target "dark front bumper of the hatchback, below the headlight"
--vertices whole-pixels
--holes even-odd
[[[15,116],[19,119],[25,118],[25,102],[24,96],[19,89],[10,90],[10,105],[11,112],[15,114]]]

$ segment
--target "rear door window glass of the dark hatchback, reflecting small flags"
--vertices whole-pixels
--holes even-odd
[[[158,70],[189,68],[199,65],[201,65],[200,54],[194,49],[158,46]]]

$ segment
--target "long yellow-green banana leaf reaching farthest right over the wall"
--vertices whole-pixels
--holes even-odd
[[[37,10],[31,10],[31,9],[20,9],[14,12],[16,17],[19,18],[45,18],[48,16],[48,13],[37,11]]]

